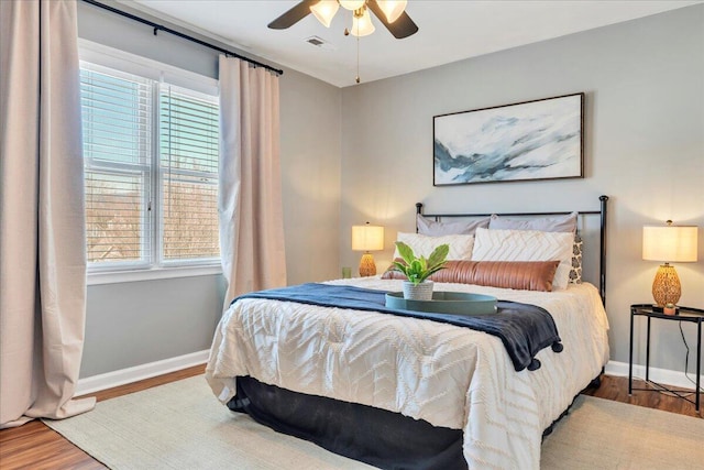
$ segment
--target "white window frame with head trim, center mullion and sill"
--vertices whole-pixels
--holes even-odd
[[[152,112],[153,117],[160,112],[161,84],[174,85],[178,88],[193,91],[196,96],[217,97],[218,80],[184,70],[150,58],[141,57],[112,47],[97,44],[79,39],[79,58],[81,67],[87,64],[95,64],[120,73],[138,75],[152,80]],[[155,112],[155,113],[154,113]],[[148,250],[145,260],[135,262],[114,262],[110,265],[88,263],[87,283],[112,284],[121,282],[147,281],[157,278],[190,277],[198,275],[221,274],[222,266],[220,258],[199,260],[166,260],[162,259],[163,250],[163,192],[160,153],[160,120],[151,120],[151,155],[148,161],[148,194],[144,195],[145,207],[152,201],[151,210],[145,211],[144,219],[148,223],[145,226],[144,242]],[[101,162],[100,168],[109,171],[113,166],[109,162]],[[121,166],[116,164],[114,166]],[[136,165],[135,165],[136,166]],[[117,170],[117,168],[116,168]]]

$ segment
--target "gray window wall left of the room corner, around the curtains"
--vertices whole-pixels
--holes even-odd
[[[123,4],[119,8],[129,10]],[[78,2],[78,33],[85,40],[217,77],[213,51],[166,33],[154,36],[146,25],[82,2]],[[279,85],[288,282],[339,277],[341,94],[289,69]],[[88,286],[80,376],[208,349],[223,296],[220,275]]]

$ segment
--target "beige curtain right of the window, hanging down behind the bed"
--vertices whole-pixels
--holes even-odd
[[[286,285],[278,77],[220,56],[220,252],[226,306]]]

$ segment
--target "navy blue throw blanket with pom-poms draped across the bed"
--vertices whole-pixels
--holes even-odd
[[[471,328],[501,338],[516,371],[526,368],[534,371],[540,368],[540,361],[536,359],[536,354],[548,346],[552,347],[554,352],[562,351],[552,316],[544,308],[517,302],[498,300],[497,311],[488,315],[435,314],[387,308],[384,291],[316,283],[252,292],[235,298],[232,303],[241,298],[267,298],[322,307],[380,311]]]

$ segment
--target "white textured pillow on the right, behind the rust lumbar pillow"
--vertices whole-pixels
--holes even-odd
[[[476,229],[473,261],[551,261],[559,260],[552,287],[566,288],[572,266],[571,232],[538,230]]]

